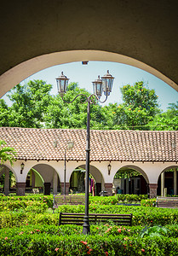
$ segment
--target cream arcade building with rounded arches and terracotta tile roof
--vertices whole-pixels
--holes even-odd
[[[2,127],[0,137],[17,152],[14,166],[7,162],[0,172],[0,176],[5,172],[7,177],[9,170],[14,173],[17,195],[25,195],[26,177],[32,169],[43,177],[46,193],[53,188],[56,194],[59,186],[60,191],[64,192],[64,155],[69,141],[73,141],[74,147],[66,152],[66,193],[69,191],[72,172],[78,166],[85,166],[84,130]],[[161,173],[174,168],[174,193],[177,193],[178,131],[90,131],[90,140],[91,173],[96,186],[106,189],[108,195],[112,195],[115,174],[123,167],[141,172],[150,197],[157,195]],[[5,191],[9,190],[7,177]],[[164,174],[161,181],[163,193]]]

